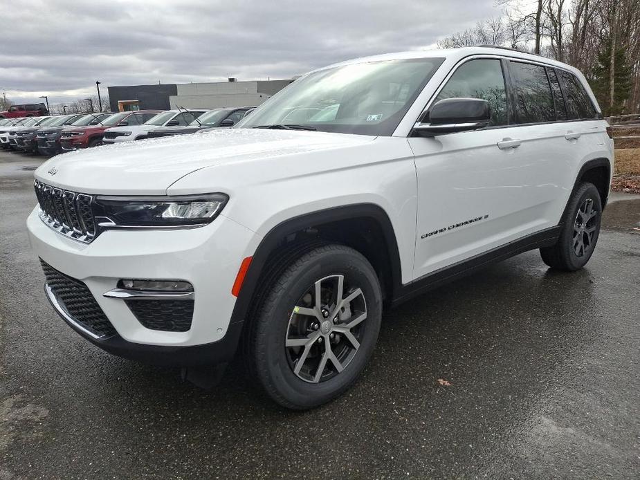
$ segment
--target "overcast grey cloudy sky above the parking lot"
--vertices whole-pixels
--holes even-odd
[[[290,78],[496,15],[493,0],[0,0],[0,93],[53,104],[95,94],[95,80]]]

